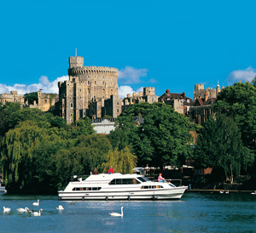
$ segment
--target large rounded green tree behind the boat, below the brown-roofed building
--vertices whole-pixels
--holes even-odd
[[[136,116],[143,117],[142,125],[133,122]],[[119,150],[129,145],[139,165],[180,166],[191,155],[188,142],[192,124],[170,105],[144,102],[132,105],[116,123],[117,128],[109,135],[112,145]]]

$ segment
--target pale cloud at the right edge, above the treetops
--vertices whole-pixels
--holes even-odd
[[[244,70],[236,70],[230,72],[228,77],[226,78],[226,82],[232,83],[232,82],[251,82],[253,77],[256,76],[256,70],[252,68],[251,66],[247,67],[247,69]]]

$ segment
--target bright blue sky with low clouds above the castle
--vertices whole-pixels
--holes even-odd
[[[193,98],[256,75],[256,1],[44,0],[1,3],[0,94],[58,93],[68,58],[119,69],[119,97],[143,87]]]

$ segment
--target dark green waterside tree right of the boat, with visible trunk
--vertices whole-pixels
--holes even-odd
[[[232,117],[224,114],[210,118],[201,129],[195,150],[197,168],[213,168],[223,171],[233,183],[234,173],[250,162],[249,150],[242,144],[241,132]]]

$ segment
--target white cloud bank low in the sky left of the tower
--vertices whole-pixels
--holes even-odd
[[[68,80],[68,76],[57,77],[53,82],[49,82],[48,77],[42,76],[39,78],[39,83],[33,83],[31,85],[15,84],[14,86],[7,86],[0,84],[0,94],[9,93],[10,91],[18,91],[18,94],[26,94],[31,92],[37,92],[42,89],[43,93],[59,93],[58,82],[64,82]]]

